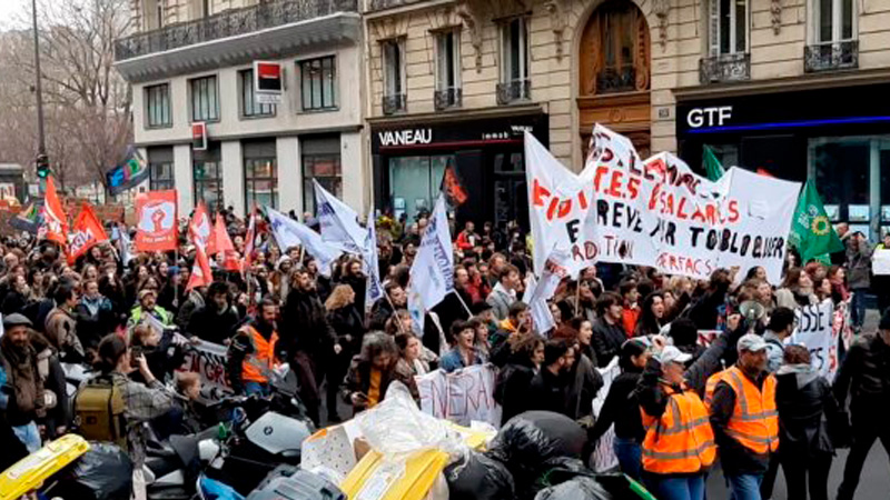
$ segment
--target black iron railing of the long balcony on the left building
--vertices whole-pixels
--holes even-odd
[[[270,0],[196,21],[171,24],[115,42],[115,60],[164,52],[305,21],[336,12],[357,12],[357,0]]]

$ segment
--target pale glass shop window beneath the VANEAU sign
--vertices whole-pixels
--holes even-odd
[[[432,212],[445,168],[454,154],[396,157],[389,159],[389,199],[396,218],[414,221],[419,212]]]

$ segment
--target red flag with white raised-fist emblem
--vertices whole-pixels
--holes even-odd
[[[176,250],[179,231],[177,219],[175,189],[149,191],[137,198],[136,250]]]

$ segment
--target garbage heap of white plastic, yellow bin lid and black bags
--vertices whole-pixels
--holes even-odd
[[[654,500],[623,474],[590,470],[582,461],[586,432],[565,416],[530,411],[500,431],[467,429],[393,392],[350,422],[366,452],[356,444],[356,454],[347,457],[350,440],[335,438],[332,428],[307,440],[315,441],[308,452],[304,442],[303,466],[334,480],[350,499]],[[329,442],[318,448],[319,438]]]

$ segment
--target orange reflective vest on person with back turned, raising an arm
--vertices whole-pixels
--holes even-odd
[[[716,446],[708,409],[693,391],[674,392],[661,418],[642,408],[643,470],[656,474],[695,473],[714,463]]]

